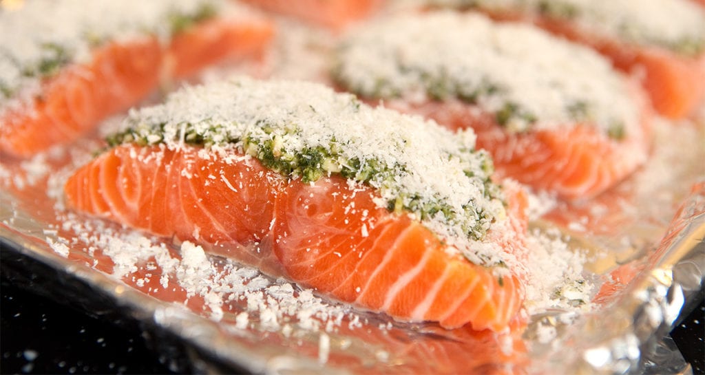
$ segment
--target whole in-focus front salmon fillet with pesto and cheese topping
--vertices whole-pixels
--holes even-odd
[[[277,111],[260,110],[277,98]],[[187,114],[190,125],[180,120]],[[453,214],[452,203],[443,203],[446,198],[438,198],[444,194],[442,184],[456,180],[474,184],[465,190],[481,186],[476,178],[482,178],[485,167],[472,164],[486,161],[468,148],[471,143],[465,142],[472,142],[471,137],[454,138],[434,123],[372,109],[323,86],[245,78],[182,90],[166,104],[132,116],[127,122],[136,127],[121,133],[118,145],[68,179],[68,207],[200,243],[335,300],[403,321],[501,331],[517,316],[525,294],[522,262],[527,251],[526,198],[519,185],[496,187],[504,203],[492,198],[499,192],[489,185],[490,190],[477,196],[456,190],[449,199],[464,202],[464,212],[458,214]],[[200,116],[207,117],[206,123],[197,120]],[[360,121],[360,134],[367,138],[346,132],[350,126],[341,122],[348,117]],[[231,125],[209,125],[210,118]],[[391,130],[376,125],[380,121]],[[280,137],[277,129],[285,133]],[[412,133],[414,129],[420,134]],[[259,131],[263,138],[256,141],[253,134]],[[330,142],[307,146],[328,137]],[[435,142],[446,147],[460,143],[457,151],[450,151]],[[331,149],[324,146],[329,144]],[[295,148],[287,145],[302,147],[302,154],[290,154]],[[378,155],[396,157],[388,162],[400,174],[386,174],[386,161],[373,154],[360,158],[375,161],[341,159],[347,152],[358,155],[360,149],[379,151],[374,147],[397,150],[398,156]],[[339,154],[328,161],[320,156],[333,150]],[[401,190],[386,200],[385,188],[412,178],[407,173],[415,176],[416,169],[426,171],[412,164],[418,158],[408,159],[409,164],[404,159],[418,152],[427,153],[424,159],[436,168],[450,168],[445,181],[436,185],[419,176],[424,187]],[[468,158],[470,164],[456,166],[456,158]],[[336,160],[340,164],[330,166]],[[329,169],[316,173],[325,165]],[[386,187],[375,187],[376,176],[384,176]],[[404,189],[414,185],[407,181]],[[431,197],[436,198],[420,197],[434,189],[438,191]],[[403,199],[409,196],[414,198]],[[478,202],[484,199],[487,203]],[[455,226],[456,221],[466,223],[455,216],[465,212],[470,215],[467,223],[474,224]],[[466,242],[467,248],[462,245]]]

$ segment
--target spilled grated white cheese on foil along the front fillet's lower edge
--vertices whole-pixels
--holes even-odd
[[[289,331],[312,332],[324,327],[335,331],[343,319],[360,321],[348,306],[326,302],[311,290],[300,290],[281,278],[272,280],[257,269],[230,259],[209,256],[191,242],[181,244],[178,257],[163,242],[136,231],[114,230],[103,221],[86,221],[74,214],[61,216],[63,230],[80,233],[70,239],[47,237],[47,243],[62,257],[82,248],[100,248],[115,264],[111,276],[132,280],[138,287],[146,286],[152,273],[142,273],[140,278],[136,275],[157,266],[156,275],[161,272],[159,283],[165,290],[173,282],[185,290],[184,303],[192,297],[202,297],[204,312],[214,321],[232,320],[233,327],[240,330],[279,331],[289,326]],[[238,303],[243,310],[229,317],[228,302]]]

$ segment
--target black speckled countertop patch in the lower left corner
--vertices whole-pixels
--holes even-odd
[[[137,326],[116,326],[5,278],[0,285],[2,374],[178,374]]]

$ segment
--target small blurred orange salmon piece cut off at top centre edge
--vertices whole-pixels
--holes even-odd
[[[312,23],[341,30],[369,16],[381,0],[246,0],[269,11],[295,16]]]

